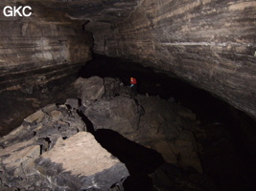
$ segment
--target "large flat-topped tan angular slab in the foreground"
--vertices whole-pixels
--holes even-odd
[[[35,160],[35,168],[54,190],[107,190],[129,176],[126,165],[86,132],[58,138],[51,151]]]

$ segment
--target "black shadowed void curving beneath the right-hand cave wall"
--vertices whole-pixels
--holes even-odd
[[[251,117],[184,81],[167,74],[155,73],[151,68],[128,61],[95,54],[80,72],[82,77],[93,75],[118,77],[125,85],[129,85],[129,77],[134,76],[138,81],[139,94],[165,99],[174,97],[176,102],[197,115],[199,126],[207,135],[205,139],[197,138],[203,145],[203,152],[199,157],[205,175],[209,175],[220,190],[256,188],[256,122]],[[99,142],[105,148],[118,142],[108,138],[108,134],[110,133],[107,131],[96,131],[96,137],[98,135]],[[114,143],[110,144],[111,141]],[[117,153],[121,160],[128,157],[124,152],[120,153],[120,148],[115,147],[109,150],[113,155]],[[132,177],[129,182],[133,179],[135,178]]]

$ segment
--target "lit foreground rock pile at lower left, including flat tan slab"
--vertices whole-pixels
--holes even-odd
[[[126,165],[65,105],[48,105],[26,117],[0,145],[0,190],[106,191],[121,189],[128,177]]]

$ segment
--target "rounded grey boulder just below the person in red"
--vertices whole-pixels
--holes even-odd
[[[138,129],[141,108],[135,100],[125,96],[99,99],[85,110],[94,129],[111,129],[123,136]]]

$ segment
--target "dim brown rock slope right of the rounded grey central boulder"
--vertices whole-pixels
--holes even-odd
[[[129,134],[128,138],[154,149],[168,163],[183,169],[192,167],[202,173],[198,143],[193,134],[198,128],[196,115],[172,98],[136,98],[145,114],[140,117],[138,130]]]

